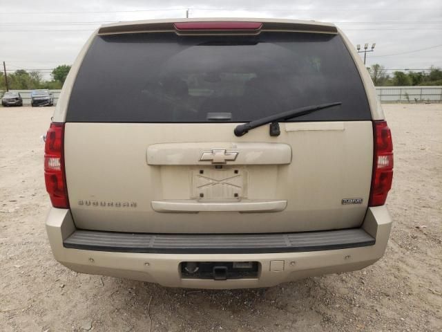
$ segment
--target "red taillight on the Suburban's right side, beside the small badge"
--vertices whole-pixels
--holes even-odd
[[[374,160],[369,206],[384,205],[393,180],[393,141],[385,121],[373,122]]]

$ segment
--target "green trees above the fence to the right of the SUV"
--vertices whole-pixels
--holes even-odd
[[[375,86],[442,85],[442,71],[434,66],[430,72],[394,71],[392,75],[381,64],[373,64],[367,70]]]

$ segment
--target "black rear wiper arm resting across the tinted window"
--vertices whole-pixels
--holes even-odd
[[[305,116],[305,114],[313,113],[315,111],[319,111],[320,109],[328,109],[329,107],[338,106],[340,104],[342,104],[342,102],[330,102],[329,104],[311,105],[307,107],[300,107],[299,109],[292,109],[291,111],[273,114],[273,116],[266,116],[265,118],[260,118],[251,122],[238,124],[233,133],[239,137],[247,133],[249,130],[260,127],[267,123],[289,120],[292,118],[297,118],[298,116]]]

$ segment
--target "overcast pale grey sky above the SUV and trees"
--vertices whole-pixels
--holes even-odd
[[[0,62],[8,72],[39,69],[47,79],[72,64],[101,24],[137,19],[265,17],[336,24],[356,44],[376,43],[367,66],[442,68],[442,1],[0,0]],[[361,53],[363,55],[363,53]]]

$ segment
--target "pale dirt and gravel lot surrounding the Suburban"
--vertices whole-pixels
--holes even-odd
[[[52,107],[0,108],[0,331],[442,331],[442,104],[384,108],[395,144],[385,257],[354,273],[241,291],[164,288],[57,264],[44,229],[40,138]]]

